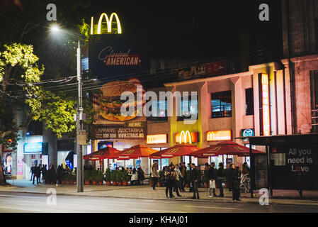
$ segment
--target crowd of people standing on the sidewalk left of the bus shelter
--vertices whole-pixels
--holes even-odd
[[[176,192],[177,196],[181,196],[179,192],[185,192],[184,187],[186,184],[186,163],[182,162],[180,165],[174,165],[171,163],[168,167],[164,167],[164,184],[166,185],[166,198],[174,198],[173,191]],[[208,180],[210,183],[208,189],[208,196],[217,196],[216,194],[216,185],[220,189],[220,194],[218,196],[224,197],[223,192],[223,182],[227,179],[227,184],[229,187],[229,192],[232,192],[233,201],[239,201],[240,192],[239,185],[241,178],[244,179],[249,175],[249,167],[246,162],[242,165],[242,172],[239,170],[239,167],[235,167],[233,163],[229,165],[229,169],[225,171],[222,162],[219,163],[218,169],[215,169],[215,163],[212,162],[210,165],[205,163],[205,170],[208,171]],[[154,164],[151,167],[151,175],[153,189],[155,190],[156,184],[158,182],[158,162],[154,161]],[[200,170],[195,167],[195,164],[191,164],[191,174],[190,174],[190,183],[191,190],[193,191],[192,199],[200,199],[198,192],[198,187],[200,184]],[[169,192],[169,195],[168,195]]]

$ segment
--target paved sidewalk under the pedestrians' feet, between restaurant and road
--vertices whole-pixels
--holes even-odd
[[[39,184],[33,185],[28,179],[16,179],[7,180],[11,186],[0,187],[0,192],[26,192],[26,193],[41,193],[46,194],[47,189],[54,188],[57,194],[74,195],[74,196],[103,196],[103,197],[118,197],[118,198],[130,198],[130,199],[166,199],[165,187],[157,187],[157,190],[153,190],[149,185],[141,186],[106,186],[103,185],[84,185],[84,192],[77,193],[76,185],[69,184]],[[13,186],[14,185],[14,186]],[[188,200],[193,196],[192,192],[181,192],[182,197],[176,197],[175,200]],[[232,203],[232,192],[228,189],[224,189],[224,198],[220,197],[208,197],[208,189],[200,188],[200,200],[207,202],[229,202]],[[219,194],[219,189],[217,189]],[[176,196],[176,193],[174,192]],[[259,192],[254,192],[254,198],[250,198],[250,194],[241,194],[241,201],[235,201],[235,203],[253,203],[259,204]],[[197,199],[195,201],[198,201]],[[318,191],[304,191],[303,196],[300,197],[297,191],[283,191],[274,190],[273,196],[269,199],[270,204],[284,204],[284,205],[306,205],[306,206],[318,206]]]

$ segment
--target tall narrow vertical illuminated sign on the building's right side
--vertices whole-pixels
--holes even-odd
[[[262,108],[260,113],[261,135],[271,135],[271,122],[269,113],[269,88],[268,88],[268,74],[260,73],[261,80],[260,87],[260,106]]]

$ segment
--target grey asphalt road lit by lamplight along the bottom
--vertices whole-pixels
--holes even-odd
[[[159,199],[120,199],[97,196],[57,195],[56,205],[48,194],[0,192],[0,212],[13,213],[316,213],[316,206],[292,206]]]

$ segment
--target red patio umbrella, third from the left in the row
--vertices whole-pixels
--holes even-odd
[[[160,150],[159,152],[150,155],[150,158],[171,158],[185,156],[197,150],[200,150],[200,148],[196,147],[195,145],[181,143],[174,145],[171,148]]]

